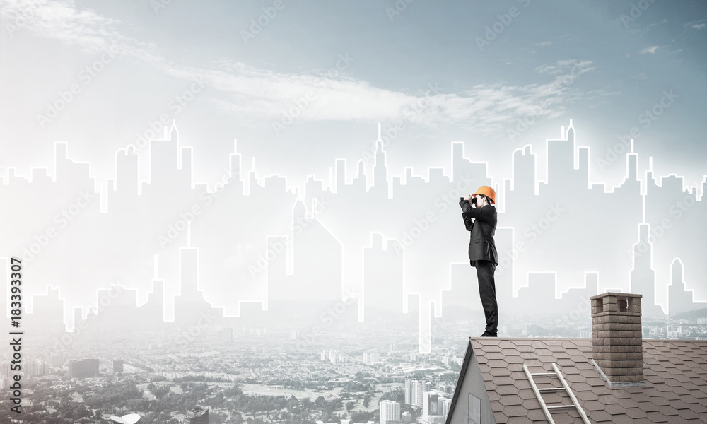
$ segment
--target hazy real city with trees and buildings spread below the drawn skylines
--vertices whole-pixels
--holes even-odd
[[[168,424],[200,423],[203,416],[204,423],[227,424],[439,423],[465,341],[484,325],[480,311],[456,322],[433,319],[433,353],[423,354],[411,314],[358,322],[352,308],[317,334],[296,311],[279,324],[244,318],[238,327],[221,327],[197,318],[142,329],[109,325],[117,316],[129,324],[131,312],[137,311],[110,305],[74,332],[42,330],[37,322],[26,330],[23,423],[51,416],[103,423],[129,413]],[[707,310],[667,324],[649,320],[643,337],[707,338],[706,322]],[[571,333],[561,316],[505,325],[514,336],[591,336],[590,329]],[[10,394],[15,372],[6,360],[0,374],[0,390]],[[0,407],[10,399],[3,396]]]

